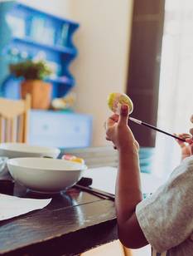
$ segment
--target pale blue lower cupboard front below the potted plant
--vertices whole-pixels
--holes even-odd
[[[60,148],[86,147],[90,145],[91,129],[91,116],[31,111],[29,142]]]

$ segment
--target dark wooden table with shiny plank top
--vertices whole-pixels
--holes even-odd
[[[45,198],[16,185],[14,195]],[[0,255],[77,255],[118,239],[114,203],[77,189],[0,223]]]

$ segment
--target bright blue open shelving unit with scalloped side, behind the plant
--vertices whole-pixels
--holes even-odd
[[[52,97],[65,96],[75,86],[70,63],[77,56],[73,35],[79,23],[55,17],[17,1],[0,2],[1,94],[20,97],[20,81],[8,76],[8,64],[25,59],[45,59],[54,70],[47,79],[53,84]],[[2,29],[3,28],[3,29]],[[6,61],[5,61],[6,60]],[[6,66],[6,67],[5,67]]]

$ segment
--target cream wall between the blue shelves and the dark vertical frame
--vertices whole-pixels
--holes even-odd
[[[70,66],[76,78],[75,110],[94,116],[93,145],[106,145],[107,96],[125,91],[133,0],[20,0],[80,22],[79,56]]]

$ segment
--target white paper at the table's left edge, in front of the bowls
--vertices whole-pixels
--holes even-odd
[[[0,220],[27,214],[35,209],[42,209],[50,204],[51,199],[26,199],[0,194]]]

